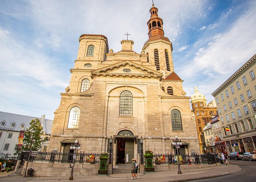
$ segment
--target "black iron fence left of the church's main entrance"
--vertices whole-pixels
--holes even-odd
[[[58,162],[58,163],[72,163],[74,153],[57,153],[57,152],[38,152],[35,156],[30,156],[30,152],[22,152],[19,160],[23,165],[29,159],[29,162]],[[75,153],[75,162],[79,163],[99,163],[98,153]]]

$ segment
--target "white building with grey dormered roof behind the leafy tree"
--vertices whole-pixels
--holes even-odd
[[[29,128],[29,123],[37,117],[12,114],[0,111],[0,153],[14,155],[18,146],[20,130]],[[45,119],[45,115],[38,118],[44,128],[46,136],[50,136],[53,120]],[[47,136],[47,137],[48,137]],[[42,151],[48,149],[49,141],[42,144]]]

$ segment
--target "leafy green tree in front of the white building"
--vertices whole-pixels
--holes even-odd
[[[42,143],[47,140],[47,137],[44,137],[45,132],[39,119],[32,119],[29,124],[30,126],[25,131],[20,151],[37,151],[41,148]],[[18,154],[20,151],[16,151],[15,154]]]

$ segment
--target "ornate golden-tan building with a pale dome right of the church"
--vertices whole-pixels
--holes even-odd
[[[200,152],[205,153],[205,139],[203,128],[206,126],[212,116],[217,115],[217,107],[215,101],[212,100],[208,105],[206,105],[205,96],[200,93],[195,86],[195,93],[191,96],[191,106],[192,112],[196,115],[196,127],[197,127],[197,135],[199,139]]]

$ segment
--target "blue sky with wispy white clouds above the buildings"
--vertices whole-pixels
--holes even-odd
[[[256,53],[256,0],[154,0],[173,44],[174,71],[186,96],[207,103]],[[108,37],[109,49],[148,39],[151,0],[1,0],[0,111],[53,119],[69,85],[82,34]]]

